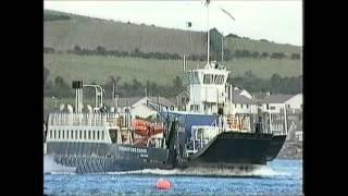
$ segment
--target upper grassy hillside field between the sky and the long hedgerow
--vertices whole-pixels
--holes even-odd
[[[70,20],[46,21],[44,23],[44,45],[55,50],[71,50],[75,45],[82,48],[107,50],[169,53],[206,53],[206,34],[156,26],[136,25],[91,19],[61,12],[45,11],[45,16],[69,15]],[[247,38],[225,38],[229,51],[236,49],[251,52],[301,53],[301,47],[278,45]]]

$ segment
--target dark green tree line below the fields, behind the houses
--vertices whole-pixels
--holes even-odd
[[[44,96],[45,97],[74,97],[74,90],[71,84],[66,83],[62,76],[57,76],[53,81],[48,79],[50,71],[44,68]],[[137,78],[132,82],[122,83],[121,76],[109,76],[104,84],[99,84],[105,89],[107,98],[113,97],[113,87],[115,94],[120,97],[141,97],[147,93],[148,96],[175,97],[185,89],[183,79],[179,76],[173,78],[172,85],[163,86],[153,81],[141,83]],[[228,77],[228,83],[243,87],[250,93],[272,94],[298,94],[302,91],[302,75],[296,77],[282,77],[279,74],[273,74],[271,78],[259,78],[252,71],[247,71],[243,76]],[[96,83],[92,83],[96,84]],[[95,96],[94,90],[85,90],[87,98]]]

